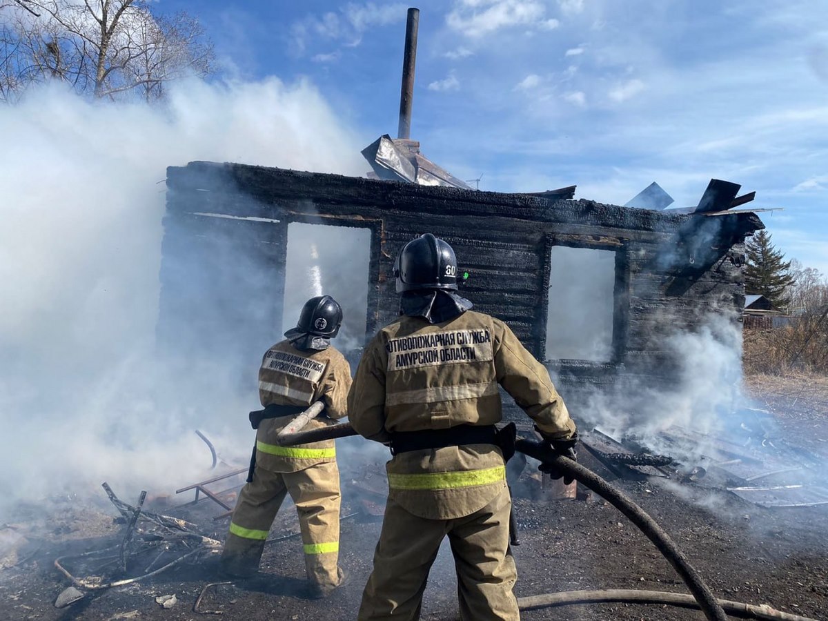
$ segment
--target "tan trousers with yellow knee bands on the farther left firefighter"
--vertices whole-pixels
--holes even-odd
[[[233,575],[258,570],[267,533],[291,494],[299,513],[307,578],[317,585],[339,585],[339,469],[336,462],[312,465],[298,472],[256,468],[233,510],[221,565]]]

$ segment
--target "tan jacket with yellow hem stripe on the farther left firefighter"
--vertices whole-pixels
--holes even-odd
[[[310,406],[325,402],[329,419],[339,419],[348,413],[347,397],[351,386],[351,369],[344,356],[333,347],[321,351],[296,349],[283,340],[267,350],[259,368],[259,397],[262,406],[272,403],[289,406]],[[256,467],[272,472],[296,472],[312,465],[334,461],[334,440],[296,446],[279,446],[279,431],[293,420],[293,416],[268,418],[262,421],[256,433]],[[306,430],[327,426],[325,416],[315,418]]]

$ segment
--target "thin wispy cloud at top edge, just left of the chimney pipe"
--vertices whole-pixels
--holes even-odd
[[[301,55],[314,38],[342,41],[355,47],[362,41],[363,33],[374,26],[388,26],[406,18],[406,5],[402,3],[377,5],[374,2],[349,4],[339,12],[329,11],[322,15],[309,15],[291,26],[293,50]]]

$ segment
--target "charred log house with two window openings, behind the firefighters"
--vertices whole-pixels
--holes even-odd
[[[431,232],[469,272],[464,295],[506,321],[570,400],[630,379],[671,382],[665,337],[710,314],[738,320],[744,238],[763,228],[753,213],[240,164],[171,167],[166,183],[158,336],[169,348],[243,361],[249,373],[324,290],[343,301],[338,344],[356,358],[397,315],[398,250]]]

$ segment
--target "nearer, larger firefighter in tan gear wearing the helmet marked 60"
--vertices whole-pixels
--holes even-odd
[[[556,450],[574,456],[575,423],[546,368],[508,326],[474,312],[457,289],[457,262],[431,234],[394,267],[401,317],[366,347],[349,419],[390,443],[388,503],[359,619],[418,619],[440,542],[455,557],[461,619],[519,619],[508,549],[512,500],[494,424],[498,385]]]

